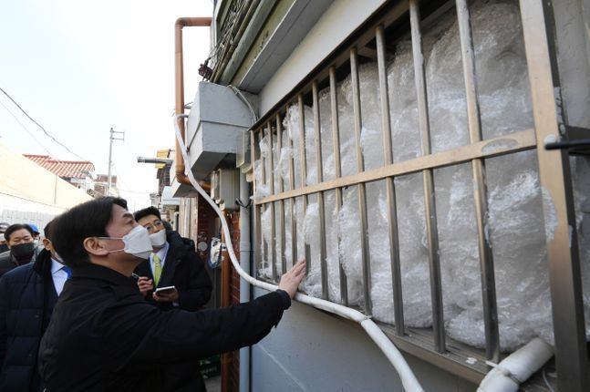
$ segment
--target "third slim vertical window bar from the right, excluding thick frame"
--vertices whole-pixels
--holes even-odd
[[[376,30],[377,67],[379,76],[379,98],[381,101],[381,131],[383,132],[384,165],[393,163],[391,149],[391,121],[389,119],[388,74],[385,58],[385,35],[383,26]],[[385,179],[388,203],[389,258],[391,260],[391,284],[393,288],[393,312],[396,333],[404,334],[404,304],[401,292],[401,263],[399,260],[398,212],[396,207],[396,189],[392,177]]]

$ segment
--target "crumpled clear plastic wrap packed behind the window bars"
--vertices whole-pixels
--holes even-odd
[[[530,87],[524,56],[523,33],[517,2],[480,0],[471,6],[471,26],[476,57],[478,98],[484,139],[533,129]],[[467,108],[461,67],[459,29],[454,10],[444,15],[436,26],[427,28],[423,50],[428,87],[432,152],[450,150],[469,144]],[[394,162],[422,155],[420,150],[418,105],[414,80],[411,42],[402,40],[388,59],[388,93],[391,139]],[[359,67],[362,131],[361,144],[365,169],[383,165],[378,74],[375,63]],[[354,110],[350,77],[337,85],[338,120],[342,175],[357,173],[354,135]],[[335,178],[329,91],[319,94],[321,143],[324,180]],[[289,160],[295,164],[295,188],[302,187],[300,138],[305,137],[305,184],[317,182],[316,146],[312,108],[305,106],[305,136],[301,134],[301,116],[297,105],[287,109],[283,123],[283,149],[276,151],[272,140],[274,167],[269,168],[271,154],[267,136],[260,143],[265,161],[254,162],[255,197],[270,191],[270,179],[278,190],[279,178],[289,189]],[[289,142],[292,148],[288,147]],[[493,146],[491,147],[493,148]],[[498,318],[503,351],[513,351],[540,336],[553,344],[551,297],[546,257],[546,236],[553,235],[556,216],[543,220],[543,201],[551,209],[551,195],[541,190],[534,150],[519,152],[485,162],[488,190],[488,215],[485,225],[492,244],[497,292]],[[581,229],[580,205],[590,191],[587,160],[573,161],[577,230],[581,248],[581,265],[585,284],[585,313],[590,322],[590,237]],[[438,222],[440,268],[446,333],[471,346],[485,346],[481,302],[481,273],[473,197],[471,164],[434,170]],[[429,327],[431,321],[430,270],[424,215],[422,174],[395,179],[399,228],[404,319],[406,325]],[[339,263],[347,274],[348,302],[362,306],[362,263],[360,218],[357,187],[343,190],[343,205],[336,211],[335,191],[325,192],[326,263],[330,301],[340,303]],[[279,227],[278,204],[275,204],[276,243],[285,230],[285,259],[292,265],[291,201],[285,201],[285,226]],[[310,195],[307,209],[303,199],[295,202],[297,254],[311,248],[309,273],[302,289],[321,296],[319,260],[319,213],[316,195]],[[371,270],[373,317],[393,323],[393,295],[388,241],[387,201],[384,181],[367,184],[367,215]],[[263,211],[263,268],[259,273],[271,276],[270,208]],[[587,214],[586,214],[587,219]],[[587,225],[586,225],[587,226]],[[277,271],[281,257],[276,246]],[[589,329],[590,330],[590,329]]]

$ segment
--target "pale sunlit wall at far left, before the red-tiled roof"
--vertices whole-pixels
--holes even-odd
[[[92,198],[0,142],[0,222],[35,223]]]

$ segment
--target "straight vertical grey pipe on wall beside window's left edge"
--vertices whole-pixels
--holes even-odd
[[[250,200],[250,187],[246,176],[240,172],[240,201]],[[250,210],[240,206],[240,265],[250,274]],[[240,302],[250,301],[250,284],[240,279]],[[250,346],[240,349],[240,392],[250,391]]]

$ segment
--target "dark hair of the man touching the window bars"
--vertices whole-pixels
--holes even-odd
[[[64,263],[70,267],[90,263],[84,240],[88,237],[106,237],[107,224],[112,219],[113,205],[127,209],[127,201],[103,197],[78,204],[51,222],[51,242]]]

